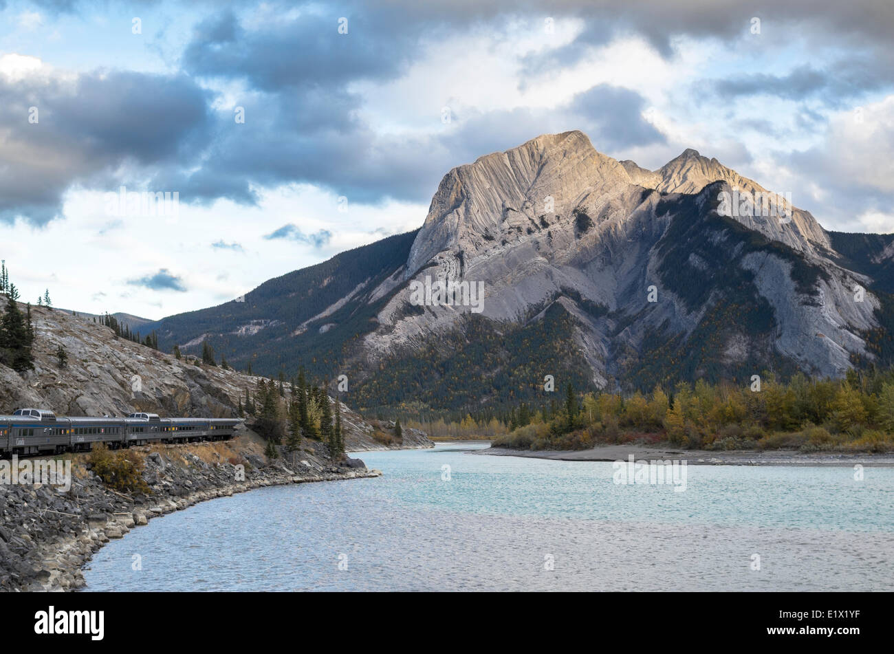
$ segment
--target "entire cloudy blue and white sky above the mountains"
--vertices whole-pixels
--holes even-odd
[[[23,299],[160,318],[415,229],[451,167],[574,129],[894,231],[892,30],[889,0],[0,0],[0,257]]]

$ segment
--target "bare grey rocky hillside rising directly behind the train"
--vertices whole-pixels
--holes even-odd
[[[163,416],[230,417],[237,415],[247,392],[254,395],[262,379],[220,366],[198,365],[192,357],[178,360],[117,338],[110,328],[80,314],[34,306],[31,314],[34,370],[20,375],[0,365],[0,413],[41,407],[57,415],[121,416],[148,411]],[[68,356],[64,366],[56,356],[60,346]],[[387,445],[379,434],[382,430],[349,407],[342,409],[342,429],[349,450],[431,447],[424,433],[409,430],[402,442]]]

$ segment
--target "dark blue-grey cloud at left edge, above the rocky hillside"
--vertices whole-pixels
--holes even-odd
[[[0,221],[44,224],[59,214],[72,185],[115,189],[114,170],[122,164],[189,161],[209,136],[207,102],[208,94],[182,75],[0,78],[0,124],[7,130]]]

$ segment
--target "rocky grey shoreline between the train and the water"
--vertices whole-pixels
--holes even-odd
[[[381,474],[359,459],[333,465],[321,444],[308,445],[295,465],[269,461],[250,447],[240,448],[244,463],[235,464],[216,451],[219,444],[147,447],[139,456],[145,457],[142,476],[150,494],[112,490],[89,469],[73,475],[67,492],[41,484],[0,485],[0,591],[77,590],[84,585],[81,568],[105,543],[198,502],[265,486]]]

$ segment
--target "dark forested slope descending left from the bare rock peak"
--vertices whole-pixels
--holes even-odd
[[[232,365],[295,373],[302,356],[312,369],[333,368],[341,346],[375,322],[375,307],[397,286],[417,232],[357,247],[322,264],[266,281],[243,301],[177,314],[141,327],[156,330],[159,348],[198,353],[208,340]],[[333,329],[334,327],[334,329]],[[332,330],[330,332],[330,330]]]

